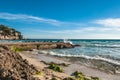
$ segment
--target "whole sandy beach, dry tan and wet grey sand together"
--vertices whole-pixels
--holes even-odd
[[[48,70],[49,74],[58,76],[58,77],[68,77],[75,71],[81,71],[87,76],[96,76],[96,77],[99,77],[101,80],[119,80],[120,79],[119,74],[105,73],[104,71],[100,71],[98,69],[94,69],[82,64],[68,62],[64,58],[59,58],[59,57],[51,56],[48,54],[42,54],[42,53],[37,54],[35,53],[35,51],[24,51],[24,52],[21,52],[20,55],[24,59],[27,59],[30,64],[33,64],[38,69],[45,71],[45,73],[47,70],[46,69],[47,65],[44,64],[43,62],[45,63],[54,62],[56,64],[62,64],[62,63],[69,64],[67,67],[66,66],[63,67],[64,73],[58,73],[54,71],[49,72]],[[50,75],[47,77],[50,77]],[[43,76],[41,80],[45,80],[45,79],[46,79],[45,76]]]

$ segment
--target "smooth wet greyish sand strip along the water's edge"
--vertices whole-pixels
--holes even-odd
[[[34,64],[36,66],[36,63],[30,61],[29,59],[35,59],[37,60],[40,64],[44,64],[43,62],[50,63],[50,62],[55,62],[57,64],[65,63],[69,64],[67,67],[64,67],[64,74],[71,75],[75,71],[81,71],[87,76],[97,76],[101,80],[119,80],[120,76],[119,74],[110,74],[106,73],[104,71],[91,68],[88,66],[85,66],[84,64],[78,64],[74,62],[70,62],[68,58],[60,58],[58,56],[53,56],[53,55],[48,55],[48,54],[35,54],[34,51],[24,51],[24,53],[20,53],[20,55],[27,59],[30,63]],[[67,61],[68,60],[68,61]]]

